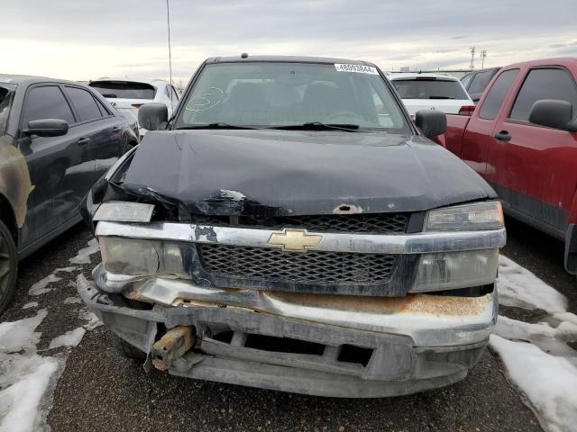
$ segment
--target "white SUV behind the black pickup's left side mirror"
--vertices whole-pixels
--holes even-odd
[[[143,103],[159,102],[169,108],[169,118],[179,103],[180,93],[167,81],[153,79],[151,81],[127,81],[118,79],[97,79],[90,84],[97,92],[105,96],[116,110],[130,112],[138,121],[138,109]],[[140,139],[146,130],[139,124]]]

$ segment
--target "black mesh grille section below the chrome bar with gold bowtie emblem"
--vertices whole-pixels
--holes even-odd
[[[398,257],[216,244],[197,247],[203,268],[210,274],[290,284],[386,284]]]

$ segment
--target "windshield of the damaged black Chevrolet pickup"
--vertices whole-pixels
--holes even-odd
[[[380,75],[337,71],[332,64],[207,65],[175,127],[274,128],[311,122],[411,133]]]

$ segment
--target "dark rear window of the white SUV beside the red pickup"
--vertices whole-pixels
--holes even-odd
[[[402,99],[469,99],[458,81],[437,78],[394,79]]]

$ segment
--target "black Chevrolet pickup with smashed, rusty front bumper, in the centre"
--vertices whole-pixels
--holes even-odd
[[[496,194],[378,67],[207,59],[88,194],[87,306],[169,374],[337,397],[462,380],[497,318]]]

